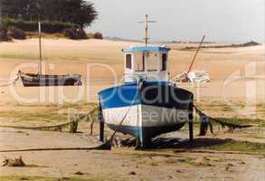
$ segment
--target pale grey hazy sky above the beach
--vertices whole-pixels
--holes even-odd
[[[218,43],[265,42],[265,0],[89,0],[99,19],[88,32],[141,40],[145,14],[151,42],[200,41]]]

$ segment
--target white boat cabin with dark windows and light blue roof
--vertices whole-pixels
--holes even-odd
[[[166,46],[131,46],[123,49],[125,82],[137,80],[168,81],[168,52]]]

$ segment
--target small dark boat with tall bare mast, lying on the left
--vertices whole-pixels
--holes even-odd
[[[18,72],[24,87],[42,87],[42,86],[80,86],[81,76],[76,73],[69,73],[66,75],[49,75],[43,74],[43,58],[42,58],[42,28],[39,21],[39,72],[38,73],[24,73]]]

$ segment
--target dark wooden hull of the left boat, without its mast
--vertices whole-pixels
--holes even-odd
[[[24,87],[42,86],[80,86],[79,74],[69,75],[40,75],[33,73],[20,73]]]

